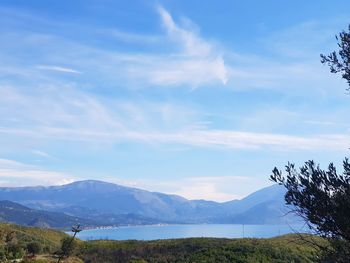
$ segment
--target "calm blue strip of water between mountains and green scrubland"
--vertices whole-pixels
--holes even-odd
[[[260,238],[274,237],[296,231],[306,232],[298,225],[152,225],[84,230],[77,237],[83,240],[155,240],[186,237]]]

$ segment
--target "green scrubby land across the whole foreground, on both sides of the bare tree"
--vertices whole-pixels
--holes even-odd
[[[12,262],[57,262],[65,233],[0,224],[1,260]],[[310,242],[312,241],[312,242]],[[29,251],[30,244],[39,250]],[[269,239],[187,238],[156,241],[78,241],[74,256],[62,263],[78,262],[317,262],[319,253],[311,243],[318,237],[285,235]],[[33,250],[33,249],[32,249]]]

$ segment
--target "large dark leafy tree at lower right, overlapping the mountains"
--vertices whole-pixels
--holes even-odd
[[[339,174],[331,163],[322,170],[308,161],[298,172],[294,164],[286,166],[287,175],[276,167],[271,180],[283,185],[285,201],[319,235],[350,242],[350,163],[343,162]]]

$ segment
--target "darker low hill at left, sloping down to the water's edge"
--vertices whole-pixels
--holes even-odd
[[[93,226],[96,223],[58,212],[28,208],[11,201],[0,201],[0,221],[44,228],[69,228],[77,223]]]

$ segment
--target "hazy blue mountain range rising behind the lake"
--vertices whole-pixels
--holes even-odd
[[[108,224],[284,223],[284,189],[271,186],[242,200],[188,200],[101,181],[49,187],[2,187],[0,200]],[[290,219],[290,218],[289,218]]]

